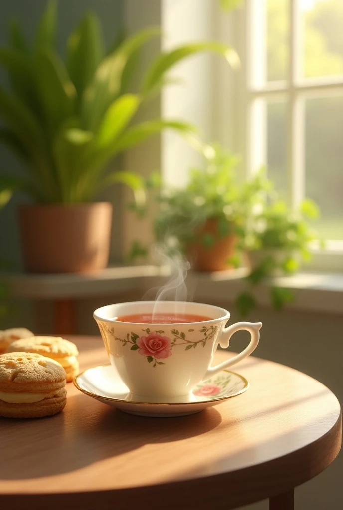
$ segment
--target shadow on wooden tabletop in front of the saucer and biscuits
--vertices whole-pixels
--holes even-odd
[[[50,418],[0,418],[1,441],[7,446],[0,454],[0,480],[74,471],[145,444],[200,436],[221,421],[213,408],[178,418],[146,418],[90,401],[81,393],[72,395],[66,409]]]

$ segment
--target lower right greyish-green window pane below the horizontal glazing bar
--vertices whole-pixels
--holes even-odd
[[[306,100],[306,196],[327,239],[343,239],[343,96]]]

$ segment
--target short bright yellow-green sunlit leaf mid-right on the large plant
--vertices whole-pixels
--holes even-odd
[[[108,107],[96,135],[96,146],[99,150],[110,148],[115,138],[125,129],[139,105],[139,96],[124,94],[115,99]],[[110,157],[110,156],[109,156]]]

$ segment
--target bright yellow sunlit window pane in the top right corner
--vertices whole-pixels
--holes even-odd
[[[306,78],[343,74],[343,0],[301,0]]]

